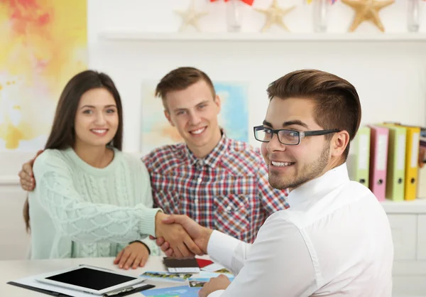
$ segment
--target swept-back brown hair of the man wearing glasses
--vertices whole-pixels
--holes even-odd
[[[361,103],[350,82],[320,70],[297,70],[269,85],[268,97],[303,98],[315,101],[314,119],[323,129],[347,131],[352,141],[361,122]],[[333,134],[326,135],[331,139]],[[344,160],[349,153],[344,151]]]

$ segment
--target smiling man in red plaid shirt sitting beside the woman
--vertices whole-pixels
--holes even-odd
[[[175,69],[160,80],[155,95],[161,97],[165,117],[185,140],[143,158],[155,206],[253,242],[266,218],[288,207],[287,191],[269,185],[258,149],[227,138],[219,127],[221,102],[204,72]]]

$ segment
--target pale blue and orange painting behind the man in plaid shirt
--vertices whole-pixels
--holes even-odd
[[[147,80],[142,87],[141,152],[149,153],[165,144],[177,144],[183,139],[164,116],[161,99],[155,97],[158,81]],[[213,82],[222,102],[219,125],[226,136],[249,141],[249,98],[246,82]]]

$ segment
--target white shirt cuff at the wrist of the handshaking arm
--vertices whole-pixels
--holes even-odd
[[[239,243],[238,239],[214,230],[207,244],[207,254],[215,261],[232,270],[234,251]]]

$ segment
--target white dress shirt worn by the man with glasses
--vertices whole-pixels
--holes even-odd
[[[346,163],[288,195],[253,244],[214,231],[207,251],[236,274],[209,297],[390,297],[393,242],[386,212]]]

